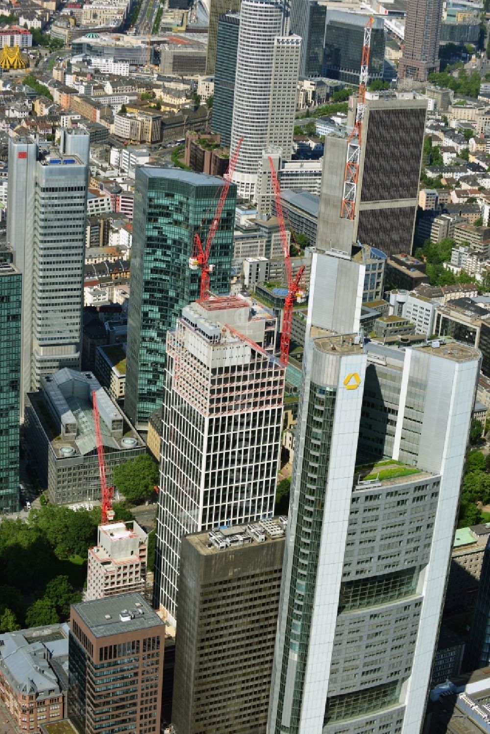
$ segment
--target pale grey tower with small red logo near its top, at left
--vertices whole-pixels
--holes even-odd
[[[87,175],[78,156],[9,139],[7,239],[23,279],[22,419],[24,395],[41,375],[80,366]]]

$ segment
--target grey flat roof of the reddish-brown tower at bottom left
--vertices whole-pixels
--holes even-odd
[[[143,614],[140,614],[138,609],[143,610]],[[165,630],[165,623],[156,611],[136,593],[80,602],[73,604],[73,610],[95,637],[137,632],[159,626]],[[131,613],[131,618],[125,622],[120,619],[123,611]]]

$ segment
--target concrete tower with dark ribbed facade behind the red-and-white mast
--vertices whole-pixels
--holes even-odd
[[[347,139],[325,138],[317,244],[348,251],[351,243],[360,241],[386,255],[410,254],[426,102],[394,94],[376,96],[366,101],[353,220],[340,217]]]

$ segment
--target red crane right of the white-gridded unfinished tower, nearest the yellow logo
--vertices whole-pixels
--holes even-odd
[[[284,255],[284,271],[286,274],[287,297],[284,301],[281,331],[281,362],[287,367],[289,360],[289,341],[291,340],[291,324],[292,324],[292,307],[295,301],[302,301],[305,297],[304,291],[300,288],[300,282],[303,278],[305,266],[302,265],[296,276],[292,277],[291,258],[289,256],[289,242],[287,241],[286,225],[284,225],[284,213],[281,203],[281,187],[274,168],[273,159],[269,156],[270,177],[273,183],[273,193],[275,200],[275,211],[279,222],[279,233],[281,235],[282,252]]]

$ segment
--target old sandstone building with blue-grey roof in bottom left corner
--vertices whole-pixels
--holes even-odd
[[[38,733],[63,719],[68,688],[68,627],[48,625],[0,635],[0,701],[18,732]]]

